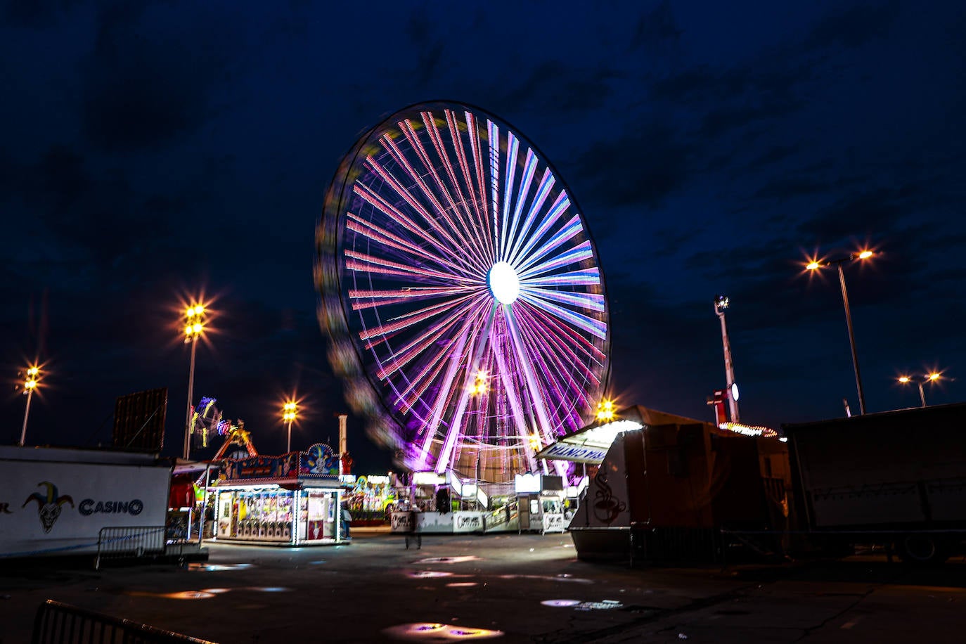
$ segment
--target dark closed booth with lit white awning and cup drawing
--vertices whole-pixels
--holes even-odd
[[[780,549],[751,541],[788,528],[787,447],[767,428],[726,425],[633,406],[545,448],[589,476],[568,526],[578,557],[701,562],[738,541]]]

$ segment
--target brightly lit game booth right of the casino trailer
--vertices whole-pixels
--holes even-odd
[[[325,443],[304,452],[221,462],[214,541],[321,546],[346,539],[339,521],[339,459]]]

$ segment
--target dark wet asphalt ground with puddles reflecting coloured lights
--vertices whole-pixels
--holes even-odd
[[[220,644],[293,642],[963,642],[966,561],[634,568],[577,560],[567,534],[208,546],[208,561],[0,560],[0,644],[69,603]]]

